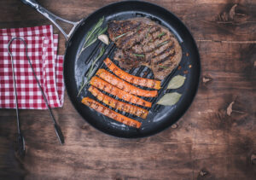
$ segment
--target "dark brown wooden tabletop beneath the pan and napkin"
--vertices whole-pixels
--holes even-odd
[[[113,1],[38,2],[80,20]],[[88,125],[66,95],[64,107],[54,109],[64,146],[46,110],[20,110],[27,149],[20,160],[15,110],[0,109],[0,179],[256,179],[256,1],[150,2],[183,20],[199,47],[201,84],[189,111],[156,136],[120,139]],[[49,24],[17,0],[0,1],[0,13],[0,28]],[[64,44],[61,36],[59,54]]]

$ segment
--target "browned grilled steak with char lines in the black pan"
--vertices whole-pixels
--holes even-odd
[[[147,18],[113,20],[108,23],[108,34],[118,48],[113,59],[125,69],[146,66],[154,78],[162,80],[181,61],[177,39],[166,27]]]

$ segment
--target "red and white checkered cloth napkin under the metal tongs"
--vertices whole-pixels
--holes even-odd
[[[0,107],[15,108],[15,90],[12,78],[8,44],[12,38],[26,41],[32,67],[44,90],[50,107],[62,107],[64,101],[63,55],[57,55],[58,35],[52,26],[0,29]],[[26,59],[25,45],[15,40],[10,45],[13,54],[19,108],[45,109],[44,97]]]

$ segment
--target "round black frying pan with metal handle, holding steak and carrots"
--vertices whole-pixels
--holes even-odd
[[[183,113],[185,113],[189,108],[189,105],[195,97],[195,93],[199,84],[201,72],[200,56],[195,44],[195,40],[190,34],[189,30],[186,26],[183,25],[183,22],[177,19],[175,15],[172,15],[170,11],[163,9],[153,3],[146,3],[141,1],[125,1],[109,4],[102,9],[96,10],[96,12],[89,15],[84,20],[80,20],[79,22],[72,22],[69,20],[63,20],[60,17],[49,13],[49,11],[42,8],[34,0],[22,0],[22,2],[32,6],[33,8],[37,9],[38,12],[49,18],[49,20],[51,20],[61,30],[65,38],[67,38],[67,49],[64,61],[64,79],[67,88],[67,95],[81,116],[97,130],[105,132],[109,135],[127,138],[151,136],[157,132],[165,130],[177,122],[177,120],[180,119]],[[180,63],[182,68],[174,70],[172,74],[170,74],[162,82],[164,88],[160,90],[160,95],[158,98],[147,99],[148,101],[154,102],[153,107],[150,109],[148,118],[142,120],[126,114],[129,115],[129,117],[132,119],[137,119],[143,122],[142,127],[138,130],[126,125],[122,125],[113,119],[108,119],[102,114],[96,113],[96,111],[84,106],[81,103],[82,97],[91,96],[90,93],[87,92],[86,88],[84,88],[79,97],[77,96],[82,77],[90,67],[91,52],[94,52],[94,49],[98,49],[101,43],[97,42],[96,44],[90,46],[90,48],[86,49],[86,52],[84,52],[79,57],[79,59],[76,59],[76,56],[79,54],[79,50],[84,44],[86,33],[93,25],[96,24],[100,18],[102,18],[102,16],[105,17],[104,25],[106,25],[109,20],[126,20],[132,17],[146,16],[151,20],[160,23],[162,26],[166,26],[177,37],[183,49],[183,58]],[[73,29],[69,34],[66,34],[55,20],[63,20],[67,23],[70,23],[73,25]],[[102,59],[98,61],[96,66],[106,68],[102,63],[102,60],[107,56],[112,58],[113,54],[114,47],[109,45],[105,55],[102,56]],[[189,68],[189,65],[192,65],[192,67]],[[132,70],[130,73],[137,76],[142,76],[144,72],[147,71],[150,71],[147,69],[147,67],[140,67]],[[182,93],[183,96],[179,102],[177,102],[177,104],[172,107],[156,105],[155,102],[157,102],[166,92],[165,87],[168,81],[177,74],[181,74],[187,77],[185,84],[178,90],[167,90],[167,92],[177,91]],[[152,73],[148,73],[147,78],[154,77]]]

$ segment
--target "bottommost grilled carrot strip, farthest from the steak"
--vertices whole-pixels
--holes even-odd
[[[125,125],[130,125],[131,127],[136,128],[140,128],[140,126],[142,125],[142,123],[138,122],[137,120],[130,119],[120,113],[116,113],[108,107],[103,106],[101,103],[90,99],[90,97],[84,97],[82,99],[82,103],[90,108],[93,108],[94,110],[96,110],[96,112],[102,113],[103,115],[108,116],[108,118],[119,121]]]

